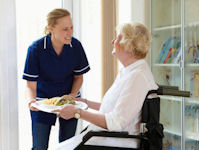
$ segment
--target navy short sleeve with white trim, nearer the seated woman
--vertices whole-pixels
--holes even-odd
[[[82,47],[81,43],[78,43],[78,63],[75,67],[75,69],[73,70],[75,75],[81,75],[84,74],[86,72],[88,72],[90,70],[90,66],[84,51],[84,48]]]

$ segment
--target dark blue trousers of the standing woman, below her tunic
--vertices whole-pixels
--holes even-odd
[[[59,142],[65,141],[75,135],[77,119],[64,120],[59,118]],[[32,150],[47,150],[51,125],[32,122]]]

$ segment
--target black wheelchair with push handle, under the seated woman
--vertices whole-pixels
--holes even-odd
[[[150,94],[157,94],[157,97],[148,98]],[[89,131],[75,150],[162,150],[164,127],[159,122],[160,97],[158,95],[190,97],[190,92],[180,91],[177,86],[159,85],[157,90],[149,91],[144,100],[139,135],[129,135],[128,132]],[[124,145],[118,147],[114,145],[105,146],[102,144],[87,144],[93,137],[120,138],[120,140],[138,139],[140,140],[140,146],[136,149],[124,147]]]

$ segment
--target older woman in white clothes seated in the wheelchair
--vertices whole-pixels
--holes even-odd
[[[117,38],[112,43],[112,54],[124,67],[104,95],[102,103],[77,99],[87,101],[88,107],[99,110],[99,113],[81,110],[73,105],[66,105],[56,111],[64,119],[77,117],[91,123],[86,131],[62,142],[57,150],[74,149],[90,130],[105,129],[139,134],[141,108],[146,94],[149,90],[158,88],[144,60],[150,49],[151,35],[143,24],[123,24],[118,27]],[[136,140],[132,144],[135,148],[139,146]]]

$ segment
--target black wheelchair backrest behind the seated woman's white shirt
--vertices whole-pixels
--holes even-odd
[[[149,91],[143,106],[142,106],[142,118],[141,124],[144,124],[145,131],[141,133],[147,137],[146,140],[141,140],[140,149],[144,150],[161,150],[163,148],[163,125],[160,120],[160,98],[148,98],[150,94],[157,94],[156,91]]]

